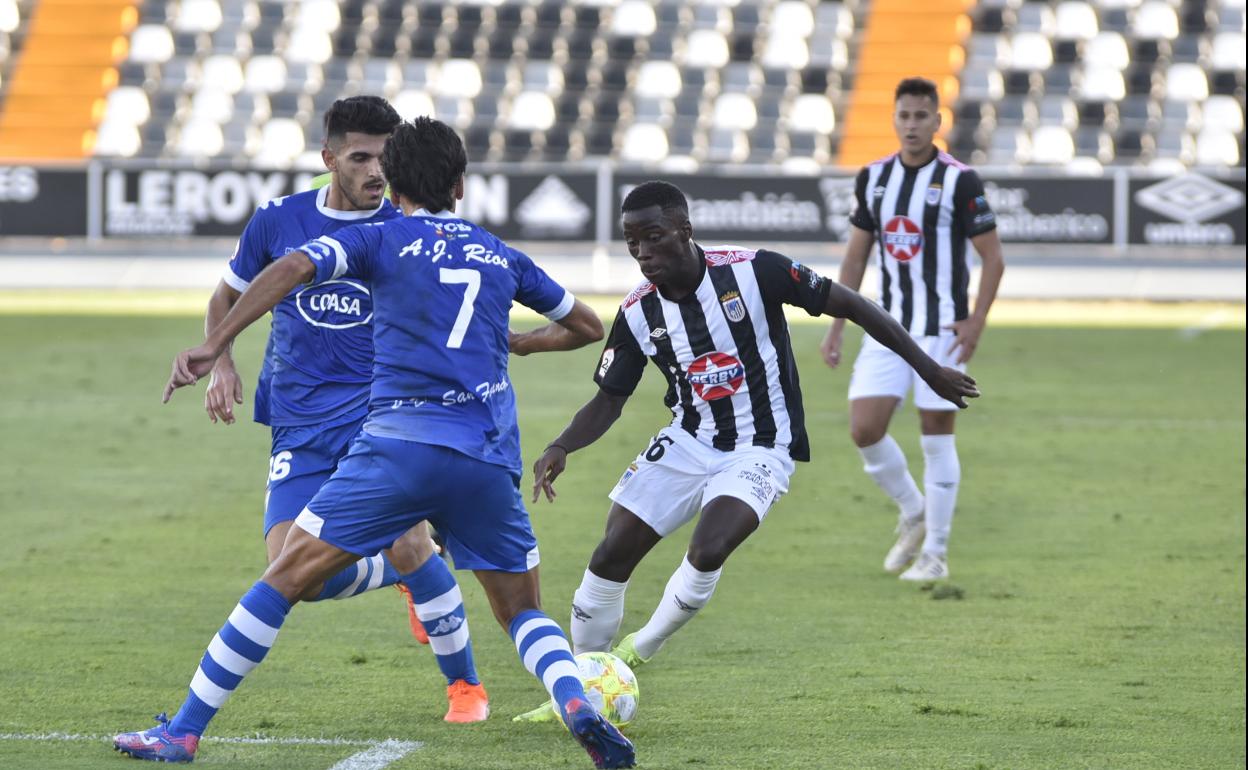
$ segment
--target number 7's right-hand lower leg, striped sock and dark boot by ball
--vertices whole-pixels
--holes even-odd
[[[594,766],[631,768],[633,744],[590,705],[567,636],[539,608],[535,569],[527,573],[477,570],[475,574],[494,618],[515,643],[524,668],[545,685],[555,703],[555,713]]]

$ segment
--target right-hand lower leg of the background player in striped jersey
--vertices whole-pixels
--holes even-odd
[[[902,580],[919,583],[948,577],[948,533],[957,505],[957,489],[962,467],[953,442],[956,411],[920,409],[919,423],[924,447],[924,492],[926,493],[926,537],[914,567],[901,574]]]

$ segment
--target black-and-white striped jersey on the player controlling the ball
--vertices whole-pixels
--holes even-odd
[[[649,358],[668,381],[673,427],[724,452],[778,447],[809,461],[782,305],[817,316],[831,282],[771,251],[698,252],[705,272],[694,293],[673,302],[644,282],[624,300],[594,382],[631,396]]]

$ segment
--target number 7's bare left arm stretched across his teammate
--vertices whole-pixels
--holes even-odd
[[[222,352],[245,328],[268,311],[300,283],[316,276],[316,266],[302,251],[286,255],[256,276],[247,291],[238,297],[226,317],[201,344],[182,351],[173,358],[173,372],[165,384],[162,402],[168,402],[177,388],[195,384],[216,363]]]

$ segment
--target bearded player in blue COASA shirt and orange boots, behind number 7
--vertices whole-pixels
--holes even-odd
[[[322,155],[329,183],[268,201],[256,211],[208,301],[206,333],[275,260],[317,236],[401,216],[383,197],[379,161],[386,137],[399,121],[378,96],[341,99],[326,111]],[[256,422],[272,427],[265,494],[270,562],[363,423],[373,364],[372,314],[368,287],[353,276],[293,291],[273,308],[253,409]],[[241,402],[242,381],[227,351],[212,369],[205,408],[213,422],[232,423],[233,403]],[[303,598],[343,599],[398,587],[417,640],[429,643],[426,625],[438,629],[432,648],[447,678],[446,720],[482,721],[489,715],[489,699],[473,663],[463,599],[451,569],[441,559],[429,560],[432,554],[428,528],[419,524],[389,552],[359,559]],[[399,573],[411,579],[401,580]]]

